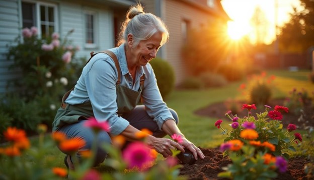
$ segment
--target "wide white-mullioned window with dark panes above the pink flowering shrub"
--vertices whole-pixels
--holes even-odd
[[[57,7],[47,3],[22,2],[22,28],[36,26],[42,37],[58,31]]]

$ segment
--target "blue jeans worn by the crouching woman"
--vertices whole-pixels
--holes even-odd
[[[170,112],[172,113],[173,117],[175,118],[176,124],[179,123],[178,114],[175,110],[169,108]],[[150,130],[155,137],[164,137],[167,134],[161,130],[159,130],[157,124],[153,121],[147,112],[145,111],[144,105],[137,105],[131,112],[123,114],[123,118],[125,118],[130,125],[134,128],[141,130],[146,128]],[[64,133],[67,138],[82,138],[86,143],[85,146],[81,147],[78,152],[76,153],[77,159],[80,160],[81,155],[80,151],[91,150],[93,141],[95,139],[95,135],[90,128],[84,126],[84,123],[88,120],[80,120],[78,123],[69,124],[58,128],[56,131]],[[103,150],[101,147],[102,144],[107,143],[111,144],[110,136],[107,132],[102,131],[98,134],[97,137],[97,151],[96,157],[94,160],[94,166],[102,163],[105,158],[107,157],[107,152]],[[60,149],[61,150],[61,149]],[[62,151],[62,150],[61,150]],[[68,154],[68,152],[62,151],[64,154]]]

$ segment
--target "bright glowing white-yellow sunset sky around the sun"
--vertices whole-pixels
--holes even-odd
[[[268,36],[264,42],[271,43],[276,37],[276,2],[278,7],[277,22],[279,26],[282,26],[289,20],[288,14],[292,12],[292,5],[299,7],[299,0],[222,0],[221,4],[225,12],[233,20],[229,27],[231,27],[232,34],[236,37],[241,37],[245,34],[252,35],[250,19],[254,14],[255,8],[259,6],[264,11],[269,23]]]

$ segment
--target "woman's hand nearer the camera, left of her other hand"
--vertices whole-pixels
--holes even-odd
[[[148,136],[146,141],[150,147],[152,147],[158,153],[162,154],[164,157],[172,155],[171,149],[178,149],[181,152],[184,152],[183,147],[179,143],[168,138],[156,138],[153,136]]]

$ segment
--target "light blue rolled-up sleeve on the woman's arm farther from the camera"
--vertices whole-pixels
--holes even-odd
[[[145,73],[145,81],[142,91],[142,101],[148,115],[153,118],[153,121],[155,121],[159,129],[162,130],[164,122],[168,119],[174,120],[174,117],[162,98],[151,65],[147,64],[143,68],[143,71]]]

